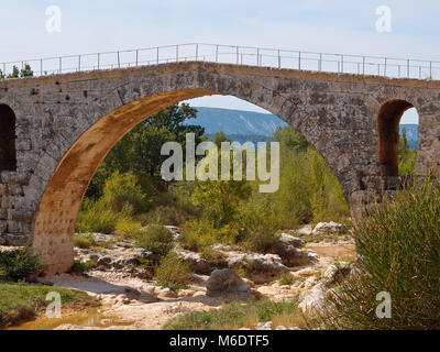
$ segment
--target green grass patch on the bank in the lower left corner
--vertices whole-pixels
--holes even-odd
[[[78,290],[0,283],[0,328],[8,328],[34,319],[50,304],[50,301],[46,301],[46,295],[52,292],[59,293],[64,309],[76,305],[98,305],[95,298]]]

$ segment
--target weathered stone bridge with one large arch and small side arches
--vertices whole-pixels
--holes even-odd
[[[230,95],[271,111],[323,156],[352,209],[397,179],[398,124],[419,112],[417,174],[439,170],[440,81],[174,63],[0,81],[0,238],[31,239],[50,273],[73,264],[97,167],[141,121],[182,100]]]

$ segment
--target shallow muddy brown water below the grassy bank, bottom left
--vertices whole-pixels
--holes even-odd
[[[63,318],[38,318],[34,321],[28,321],[7,330],[54,330],[66,323],[86,328],[107,328],[111,326],[129,327],[134,322],[120,321],[116,317],[107,317],[100,314],[98,309],[92,309],[89,311],[68,315]]]

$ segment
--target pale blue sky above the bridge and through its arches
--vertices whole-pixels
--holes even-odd
[[[46,29],[52,6],[61,32]],[[391,32],[376,29],[381,6]],[[0,0],[0,62],[195,42],[440,61],[435,0]],[[232,97],[193,105],[262,111]]]

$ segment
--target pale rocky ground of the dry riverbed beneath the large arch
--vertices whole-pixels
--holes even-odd
[[[177,228],[167,228],[176,239],[179,237]],[[140,265],[140,258],[156,261],[153,253],[134,248],[130,241],[113,242],[111,235],[92,237],[101,248],[75,249],[76,261],[95,263],[86,276],[63,274],[42,282],[97,296],[102,304],[100,317],[111,319],[99,327],[64,323],[57,329],[154,330],[179,314],[263,297],[279,301],[299,296],[300,308],[308,310],[319,307],[326,289],[338,274],[350,270],[355,256],[353,240],[338,223],[320,223],[315,229],[304,227],[295,235],[284,233],[270,254],[218,244],[215,250],[221,255],[215,262],[176,244],[175,252],[190,264],[195,274],[186,289],[175,293],[157,286],[151,270]],[[279,277],[286,273],[290,273],[292,278],[283,284]],[[257,327],[284,328],[272,327],[270,322]]]

